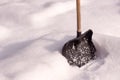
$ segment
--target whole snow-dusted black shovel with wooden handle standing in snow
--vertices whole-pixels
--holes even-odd
[[[72,66],[81,67],[95,59],[96,48],[92,42],[92,30],[81,34],[80,0],[76,0],[77,37],[68,41],[62,49],[62,55]]]

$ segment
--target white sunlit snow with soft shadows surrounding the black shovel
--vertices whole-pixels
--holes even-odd
[[[78,68],[61,55],[76,37],[75,0],[0,0],[0,80],[120,80],[120,0],[81,1],[97,59]]]

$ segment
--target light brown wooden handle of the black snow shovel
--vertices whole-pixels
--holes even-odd
[[[76,0],[77,11],[77,32],[81,32],[81,13],[80,13],[80,0]]]

